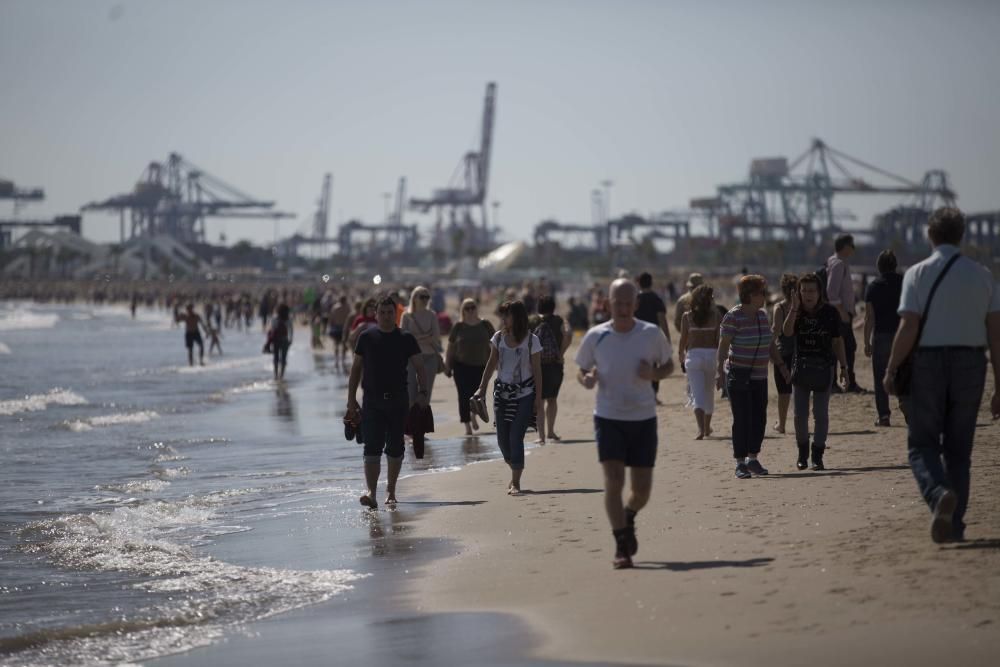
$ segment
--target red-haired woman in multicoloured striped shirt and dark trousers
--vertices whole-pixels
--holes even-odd
[[[767,474],[757,460],[767,423],[771,326],[764,310],[766,290],[763,276],[740,278],[740,305],[726,313],[719,331],[716,385],[725,384],[729,391],[737,479]]]

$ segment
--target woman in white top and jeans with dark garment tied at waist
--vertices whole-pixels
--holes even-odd
[[[502,326],[490,339],[490,359],[486,362],[479,389],[472,395],[479,399],[497,371],[493,383],[493,411],[497,428],[497,444],[503,460],[510,466],[507,493],[521,493],[521,473],[524,470],[524,434],[542,414],[542,344],[528,330],[528,311],[520,301],[508,301],[500,306]],[[541,444],[545,444],[544,434]]]

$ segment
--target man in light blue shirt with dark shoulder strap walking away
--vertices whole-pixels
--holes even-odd
[[[931,214],[927,237],[934,252],[903,276],[901,322],[883,381],[886,392],[895,394],[896,371],[913,352],[907,445],[913,476],[933,515],[931,539],[938,543],[965,538],[987,344],[994,386],[1000,385],[1000,290],[985,267],[959,254],[964,233],[958,209]],[[990,409],[994,419],[1000,417],[995,392]]]

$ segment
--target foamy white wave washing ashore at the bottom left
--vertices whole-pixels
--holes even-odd
[[[204,533],[213,506],[223,498],[117,507],[23,528],[22,551],[69,569],[143,577],[133,586],[163,599],[129,617],[0,639],[0,665],[151,660],[211,644],[228,627],[329,600],[367,576],[351,570],[244,567],[164,539],[185,528]],[[234,527],[221,528],[232,532]]]

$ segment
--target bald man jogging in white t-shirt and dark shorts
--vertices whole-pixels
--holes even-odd
[[[635,517],[649,501],[656,463],[656,398],[650,383],[674,370],[663,331],[635,319],[636,287],[626,279],[611,283],[609,322],[586,333],[577,351],[577,380],[597,386],[594,432],[604,468],[604,508],[615,538],[616,570],[632,567],[639,549]],[[628,502],[622,504],[625,468],[632,469]]]

